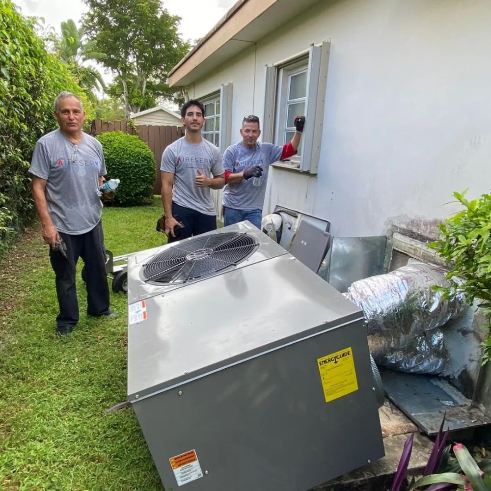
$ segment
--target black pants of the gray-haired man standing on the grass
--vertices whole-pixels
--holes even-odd
[[[50,260],[55,272],[56,296],[59,314],[58,326],[75,326],[79,320],[79,303],[75,286],[75,266],[79,257],[85,263],[87,314],[102,315],[109,312],[109,286],[106,274],[106,250],[102,223],[82,235],[59,232],[66,244],[67,259],[50,247]]]

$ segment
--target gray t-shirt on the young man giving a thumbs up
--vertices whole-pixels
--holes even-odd
[[[198,188],[194,182],[198,169],[207,177],[224,172],[220,151],[208,140],[193,145],[183,136],[164,150],[160,170],[174,174],[172,201],[204,215],[216,215],[210,188]]]

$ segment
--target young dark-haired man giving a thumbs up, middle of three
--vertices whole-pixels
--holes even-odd
[[[199,101],[188,101],[181,109],[186,134],[167,146],[162,155],[160,169],[167,242],[217,228],[210,189],[223,188],[225,175],[220,151],[201,136],[204,114]]]

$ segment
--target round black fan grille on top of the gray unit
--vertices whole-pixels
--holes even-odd
[[[169,247],[143,265],[149,283],[187,283],[205,278],[247,259],[258,243],[246,233],[224,232],[198,236]]]

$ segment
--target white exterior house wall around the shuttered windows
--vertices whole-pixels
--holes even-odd
[[[445,204],[453,191],[490,189],[489,26],[489,0],[324,0],[190,96],[233,82],[239,140],[242,117],[262,117],[265,65],[330,39],[319,173],[273,169],[264,213],[281,204],[326,218],[338,237],[392,223],[431,235],[459,209]]]

